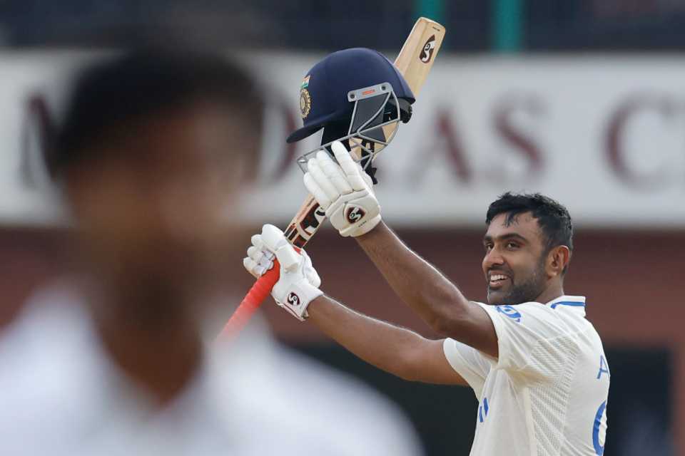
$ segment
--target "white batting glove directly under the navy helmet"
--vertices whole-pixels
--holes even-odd
[[[371,190],[371,178],[342,142],[333,142],[331,149],[338,163],[325,151],[318,152],[307,162],[305,187],[340,235],[361,236],[380,222],[380,204]]]

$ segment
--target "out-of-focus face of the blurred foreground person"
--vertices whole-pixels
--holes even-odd
[[[196,103],[120,126],[93,147],[102,158],[67,176],[93,267],[168,286],[220,274],[235,253],[241,157],[256,147],[245,130],[227,108]]]

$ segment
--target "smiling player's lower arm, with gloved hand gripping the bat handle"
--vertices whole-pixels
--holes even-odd
[[[318,326],[347,350],[367,363],[405,380],[466,385],[450,366],[443,341],[431,341],[405,328],[393,326],[348,309],[318,289],[321,280],[307,253],[295,253],[280,229],[264,225],[252,238],[243,259],[250,274],[260,276],[280,263],[280,277],[271,295],[276,304],[299,320]]]

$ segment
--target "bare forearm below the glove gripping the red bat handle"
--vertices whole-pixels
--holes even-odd
[[[411,361],[427,342],[419,334],[360,314],[328,296],[312,301],[307,311],[310,323],[357,357],[405,380],[420,380]]]

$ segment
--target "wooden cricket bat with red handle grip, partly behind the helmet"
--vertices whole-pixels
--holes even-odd
[[[405,78],[415,97],[419,95],[428,72],[435,62],[435,56],[440,51],[443,38],[445,38],[445,27],[435,21],[422,17],[414,24],[411,33],[395,59],[395,66]],[[385,138],[392,138],[398,125],[399,122],[384,125],[382,129],[383,133],[385,133]],[[355,138],[350,140],[351,152],[357,156],[357,159],[362,158],[362,150],[359,147],[360,142],[360,140]],[[382,147],[385,147],[385,145],[377,144],[375,152],[380,152]],[[285,230],[285,237],[288,238],[293,246],[300,249],[309,242],[315,232],[325,222],[325,218],[324,210],[309,195],[288,225],[288,229]],[[273,268],[255,282],[226,324],[224,334],[238,333],[245,326],[250,316],[269,296],[271,289],[278,281],[279,269],[278,262],[275,262]]]

